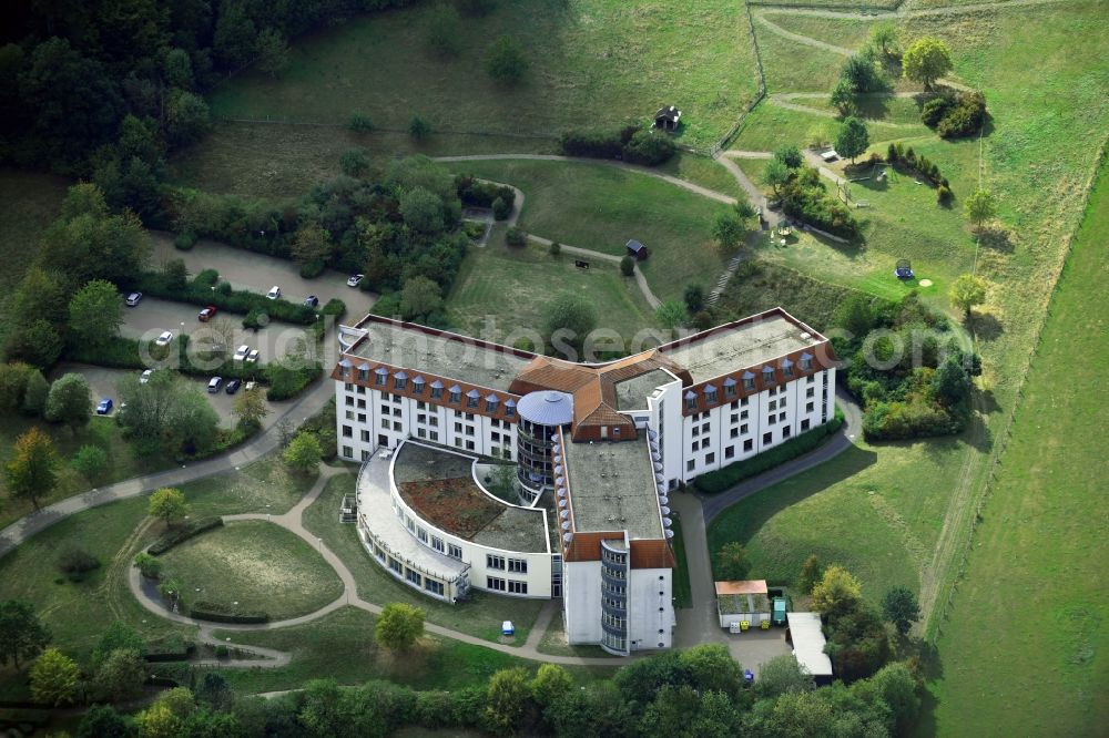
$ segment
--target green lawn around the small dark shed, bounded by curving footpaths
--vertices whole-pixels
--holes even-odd
[[[516,185],[526,196],[520,226],[537,236],[622,256],[630,238],[651,257],[640,264],[660,299],[685,285],[706,290],[724,266],[710,232],[729,206],[644,174],[581,162],[459,162],[455,171]]]

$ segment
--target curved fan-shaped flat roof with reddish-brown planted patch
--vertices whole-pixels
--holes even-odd
[[[548,552],[542,510],[513,508],[474,481],[474,457],[411,441],[396,452],[393,479],[405,503],[436,527],[479,545]]]

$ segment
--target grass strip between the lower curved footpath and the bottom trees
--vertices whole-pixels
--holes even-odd
[[[224,676],[241,693],[298,689],[308,679],[330,677],[342,685],[389,679],[415,689],[459,689],[482,684],[494,672],[513,666],[533,670],[528,662],[497,650],[425,636],[410,654],[391,656],[374,640],[376,618],[362,609],[340,607],[296,627],[250,633],[216,632],[233,644],[288,650],[293,663],[276,669],[226,669]],[[571,667],[581,684],[606,676],[608,669]]]

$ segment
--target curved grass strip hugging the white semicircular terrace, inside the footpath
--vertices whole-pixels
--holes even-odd
[[[386,574],[363,549],[354,524],[338,521],[339,502],[344,494],[353,493],[354,489],[353,473],[328,480],[324,492],[304,512],[303,521],[306,529],[322,537],[343,558],[358,584],[359,597],[377,605],[390,602],[415,605],[426,613],[429,623],[492,642],[500,639],[500,624],[512,621],[516,625],[516,643],[521,644],[528,639],[528,633],[542,609],[541,599],[517,599],[475,592],[469,601],[448,605],[425,597]]]

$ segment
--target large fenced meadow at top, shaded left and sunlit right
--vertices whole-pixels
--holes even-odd
[[[298,41],[279,79],[241,74],[210,94],[212,112],[345,123],[362,111],[394,130],[418,113],[444,130],[549,136],[583,122],[648,124],[672,102],[689,121],[682,141],[708,146],[756,90],[746,18],[728,0],[692,9],[663,0],[500,3],[486,18],[462,19],[449,59],[428,49],[430,8],[367,13]],[[519,85],[485,72],[488,48],[502,34],[527,52]]]

